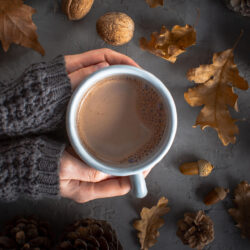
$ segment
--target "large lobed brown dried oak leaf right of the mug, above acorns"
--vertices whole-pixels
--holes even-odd
[[[233,87],[247,90],[248,83],[239,75],[233,49],[215,53],[213,64],[190,69],[187,78],[198,86],[188,89],[184,94],[186,102],[192,107],[204,106],[194,127],[200,125],[201,129],[214,128],[224,146],[235,143],[239,129],[230,116],[228,106],[238,111],[238,96]]]

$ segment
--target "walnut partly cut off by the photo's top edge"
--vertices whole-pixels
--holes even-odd
[[[62,0],[62,10],[69,20],[79,20],[88,14],[94,0]]]

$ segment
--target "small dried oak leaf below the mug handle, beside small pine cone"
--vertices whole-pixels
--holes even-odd
[[[139,231],[141,249],[148,250],[152,247],[157,237],[160,235],[158,229],[164,225],[164,220],[160,217],[168,213],[168,199],[162,197],[156,206],[152,208],[144,207],[141,211],[141,219],[134,222],[134,228]]]

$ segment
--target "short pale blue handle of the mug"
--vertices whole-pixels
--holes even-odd
[[[132,185],[132,193],[135,197],[143,198],[147,195],[148,190],[142,172],[135,175],[131,175],[130,182]]]

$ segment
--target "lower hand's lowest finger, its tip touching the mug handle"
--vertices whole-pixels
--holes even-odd
[[[79,203],[99,198],[108,198],[127,194],[131,189],[128,177],[108,179],[98,183],[71,182],[61,184],[61,195]]]

